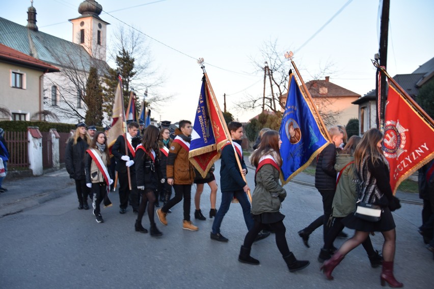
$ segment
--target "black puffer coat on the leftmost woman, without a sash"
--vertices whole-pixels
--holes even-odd
[[[74,145],[74,139],[70,139],[66,144],[65,150],[65,167],[69,177],[74,180],[86,179],[85,174],[85,153],[88,149],[88,143],[82,138],[77,139]]]

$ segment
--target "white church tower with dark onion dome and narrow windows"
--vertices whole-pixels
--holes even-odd
[[[99,18],[102,6],[93,0],[85,0],[78,7],[78,13],[82,14],[72,23],[72,42],[83,46],[94,58],[105,61],[107,25]]]

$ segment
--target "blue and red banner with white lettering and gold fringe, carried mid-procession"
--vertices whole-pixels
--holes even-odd
[[[214,105],[206,78],[203,77],[188,153],[190,162],[202,177],[206,176],[212,164],[220,158],[220,149],[227,141],[219,109]]]

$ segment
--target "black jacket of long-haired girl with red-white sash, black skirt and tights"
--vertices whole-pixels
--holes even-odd
[[[154,163],[143,149],[138,149],[135,152],[134,163],[137,186],[145,186],[145,189],[148,188],[156,191],[160,180],[163,178],[158,156],[155,157]]]

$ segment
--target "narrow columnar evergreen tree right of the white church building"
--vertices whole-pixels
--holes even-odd
[[[89,77],[86,83],[85,104],[88,107],[85,122],[88,125],[102,125],[102,88],[98,80],[98,71],[95,67],[89,70]]]

